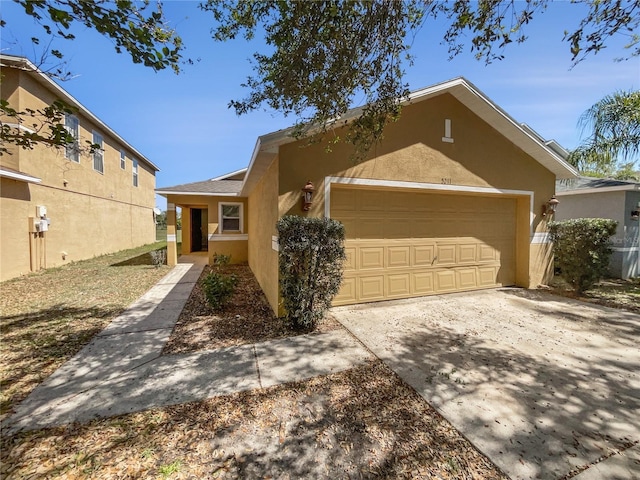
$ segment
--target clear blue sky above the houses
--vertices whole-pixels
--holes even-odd
[[[199,59],[184,72],[153,72],[117,54],[110,40],[95,31],[74,30],[76,40],[58,40],[74,74],[61,83],[71,95],[158,165],[157,186],[205,180],[247,166],[257,136],[290,126],[294,119],[269,111],[238,117],[227,108],[248,91],[240,85],[251,74],[249,59],[263,49],[261,39],[217,43],[213,18],[190,0],[164,2],[165,13],[187,47],[185,57]],[[0,0],[2,52],[31,60],[41,54],[28,40],[44,32],[12,1]],[[603,96],[640,88],[640,58],[624,55],[625,38],[571,68],[565,30],[577,26],[580,6],[552,3],[526,33],[524,44],[510,45],[505,60],[485,65],[468,50],[449,61],[440,45],[442,25],[429,21],[413,42],[415,64],[407,67],[411,90],[458,76],[474,83],[519,122],[571,149],[580,141],[580,114]],[[44,44],[46,42],[42,42]],[[162,197],[158,206],[164,209]]]

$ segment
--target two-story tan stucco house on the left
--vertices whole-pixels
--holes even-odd
[[[66,148],[0,156],[0,280],[155,241],[155,174],[145,158],[27,59],[0,56],[2,99],[18,111],[77,108]],[[3,125],[29,131],[29,123]],[[89,154],[86,140],[102,145]]]

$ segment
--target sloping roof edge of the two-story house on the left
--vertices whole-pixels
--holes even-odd
[[[108,133],[110,137],[114,138],[124,147],[126,147],[126,149],[135,156],[136,160],[146,163],[156,172],[160,171],[157,165],[155,165],[151,160],[149,160],[142,153],[136,150],[129,142],[118,135],[115,130],[113,130],[106,123],[104,123],[93,113],[91,113],[87,107],[83,106],[78,100],[73,98],[65,89],[51,80],[48,75],[38,69],[38,67],[31,63],[27,58],[0,54],[0,66],[2,66],[3,68],[15,68],[29,73],[38,83],[43,85],[48,90],[53,91],[55,95],[57,95],[61,100],[64,100],[66,103],[78,108],[78,110],[82,112],[82,115],[91,119],[91,121],[98,125],[105,133]]]

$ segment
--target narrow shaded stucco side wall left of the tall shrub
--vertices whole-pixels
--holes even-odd
[[[273,249],[273,237],[278,221],[278,169],[276,158],[249,195],[249,266],[276,313],[279,313],[278,252]]]

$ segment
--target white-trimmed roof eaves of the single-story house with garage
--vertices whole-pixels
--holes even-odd
[[[401,103],[410,105],[445,93],[453,95],[472,112],[493,126],[499,133],[553,172],[557,178],[574,178],[577,175],[576,170],[564,160],[557,148],[547,144],[530,128],[525,128],[516,122],[475,85],[463,77],[454,78],[453,80],[412,92]],[[362,107],[351,109],[336,120],[334,124],[336,128],[348,125],[361,113]],[[296,141],[291,136],[292,131],[293,129],[289,128],[258,137],[251,162],[249,163],[249,171],[242,187],[242,196],[247,196],[253,190],[258,180],[271,164],[271,161],[275,158],[279,147]]]

